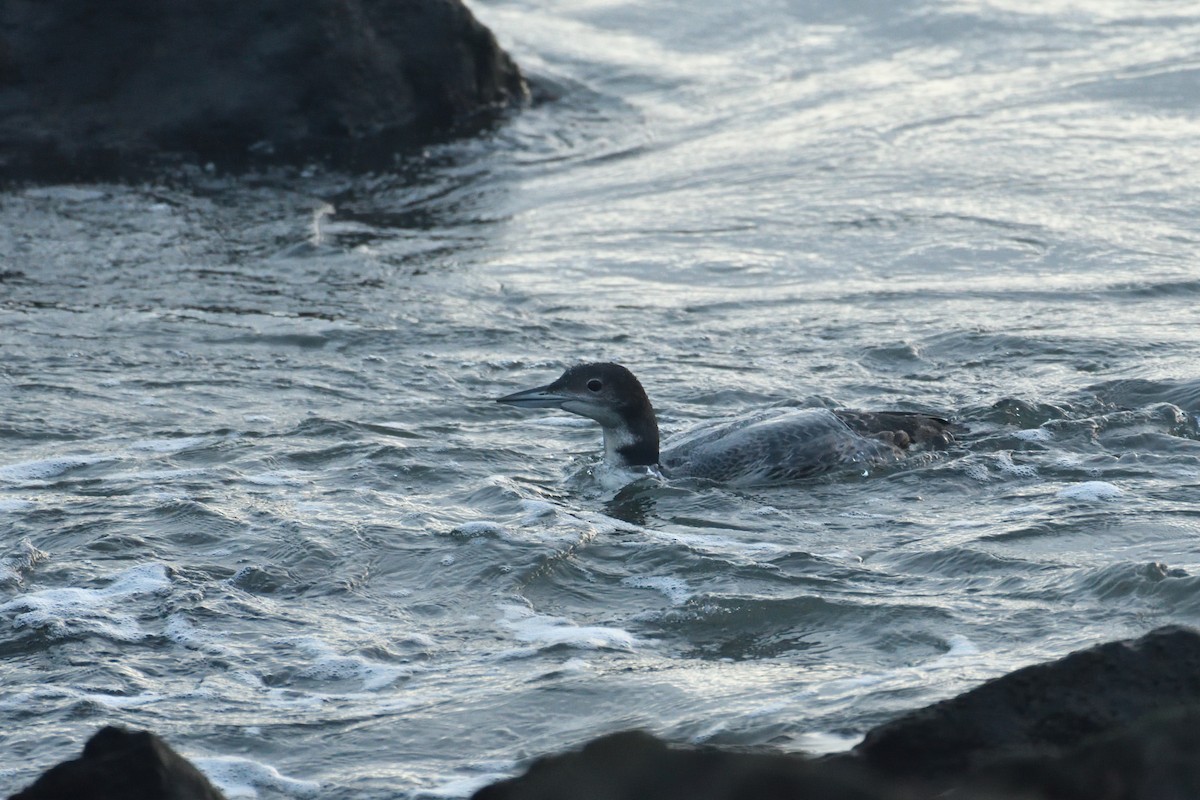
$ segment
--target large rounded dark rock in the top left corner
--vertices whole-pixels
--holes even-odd
[[[0,4],[0,176],[354,166],[527,94],[460,0]]]

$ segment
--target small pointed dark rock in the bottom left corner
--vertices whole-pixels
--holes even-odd
[[[52,766],[10,800],[223,800],[198,769],[149,730],[102,728],[83,756]]]

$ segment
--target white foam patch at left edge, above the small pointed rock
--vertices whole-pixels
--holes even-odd
[[[43,589],[0,604],[0,614],[11,614],[13,627],[32,627],[54,638],[92,633],[118,642],[136,642],[146,636],[133,614],[120,610],[132,597],[157,594],[170,588],[167,567],[146,564],[118,575],[103,589]]]

